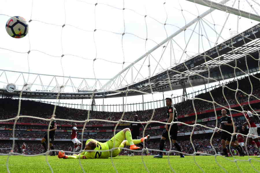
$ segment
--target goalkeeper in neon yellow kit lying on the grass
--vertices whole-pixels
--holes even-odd
[[[127,140],[125,140],[125,138]],[[130,146],[130,150],[136,150],[140,147],[135,146],[141,142],[149,140],[150,135],[141,139],[132,139],[131,131],[129,128],[125,128],[120,132],[116,133],[107,142],[99,142],[94,139],[89,139],[86,141],[86,146],[84,150],[96,150],[96,151],[83,151],[78,155],[65,155],[64,151],[59,151],[58,157],[63,159],[107,159],[108,157],[116,157],[119,155],[122,149],[126,145]],[[113,149],[112,149],[113,148]],[[111,150],[112,149],[112,150]],[[110,151],[105,151],[110,150]]]

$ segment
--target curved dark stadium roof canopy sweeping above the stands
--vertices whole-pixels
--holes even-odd
[[[37,99],[56,99],[57,97],[59,99],[90,99],[92,98],[92,95],[96,98],[122,97],[125,96],[125,93],[122,91],[127,89],[129,89],[128,96],[141,95],[143,93],[139,91],[150,93],[151,88],[153,91],[159,92],[170,91],[171,88],[172,90],[182,89],[183,87],[188,88],[191,86],[198,86],[205,83],[233,78],[235,76],[241,76],[249,72],[259,71],[259,37],[260,24],[231,37],[202,54],[190,58],[184,63],[167,69],[151,78],[146,78],[140,82],[122,87],[116,91],[89,91],[84,93],[61,92],[59,94],[59,92],[54,90],[27,90],[23,91],[22,97]],[[53,78],[55,77],[57,76],[53,76]],[[21,90],[8,93],[5,89],[0,89],[0,94],[3,96],[19,97],[20,93]]]

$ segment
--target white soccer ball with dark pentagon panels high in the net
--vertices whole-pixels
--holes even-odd
[[[14,16],[7,20],[6,32],[14,38],[23,38],[28,33],[29,26],[21,16]]]

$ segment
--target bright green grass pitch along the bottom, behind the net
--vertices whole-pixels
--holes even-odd
[[[0,156],[0,173],[7,172],[6,161],[8,156]],[[172,172],[169,164],[168,157],[163,158],[153,158],[153,156],[144,156],[144,163],[146,164],[149,172]],[[227,172],[257,172],[260,171],[260,158],[255,156],[250,157],[255,160],[251,160],[252,165],[249,161],[237,161],[237,166],[235,162],[231,162],[224,157],[218,156],[217,161],[219,164],[226,169]],[[81,173],[79,160],[78,159],[59,159],[57,156],[47,157],[53,172],[64,173],[64,172],[75,172]],[[245,157],[229,157],[229,159],[249,159],[248,156]],[[220,173],[225,172],[217,165],[215,158],[213,156],[195,156],[195,160],[198,165],[204,170],[204,172],[209,173]],[[118,172],[128,173],[139,173],[147,172],[144,164],[142,163],[141,156],[119,156],[113,158],[114,165]],[[96,172],[96,173],[110,173],[116,172],[112,165],[112,160],[109,159],[81,159],[82,166],[85,172]],[[9,158],[9,170],[12,173],[23,173],[23,172],[39,172],[39,173],[50,173],[51,170],[46,162],[46,156],[35,156],[35,157],[25,157],[25,156],[10,156]],[[193,156],[185,156],[185,158],[180,158],[179,156],[170,156],[170,165],[176,172],[202,172],[200,168],[194,162]],[[254,170],[253,166],[257,171]],[[238,169],[239,168],[239,169]]]

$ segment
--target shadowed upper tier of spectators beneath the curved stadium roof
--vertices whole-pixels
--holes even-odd
[[[259,74],[257,74],[259,77]],[[254,77],[250,77],[250,81],[252,82],[252,95],[259,98],[259,86],[260,82]],[[248,78],[244,78],[239,80],[238,88],[245,93],[250,94],[251,87],[248,87]],[[246,85],[244,83],[247,83]],[[226,99],[228,100],[229,104],[236,104],[236,98],[239,100],[239,102],[244,102],[248,100],[248,96],[241,91],[234,92],[227,87],[231,89],[237,89],[237,82],[230,82],[225,85],[226,87],[223,88],[223,92],[226,96]],[[212,97],[214,98],[214,101],[216,101],[220,105],[227,105],[226,100],[224,99],[222,93],[222,87],[218,87],[216,89],[213,89],[210,91]],[[196,95],[196,98],[205,99],[208,101],[213,101],[210,93],[201,93],[199,95]],[[235,98],[236,97],[236,98]],[[250,97],[250,100],[256,99],[255,97]],[[18,105],[18,100],[14,99],[0,99],[0,119],[8,119],[13,118],[16,116],[17,113],[17,107],[14,107],[14,105]],[[212,109],[213,104],[207,101],[202,101],[195,99],[194,100],[194,106],[196,111],[203,111],[207,109]],[[190,114],[194,112],[192,100],[183,101],[181,103],[175,104],[174,107],[178,110],[179,115],[184,114]],[[219,107],[215,104],[215,107]],[[41,118],[50,118],[51,114],[53,113],[54,106],[51,104],[46,103],[40,103],[36,101],[28,101],[28,100],[22,100],[21,101],[21,115],[29,115],[29,116],[37,116]],[[133,115],[138,114],[139,119],[141,121],[148,121],[151,119],[153,110],[144,110],[144,111],[132,111],[132,112],[125,112],[123,116],[123,120],[133,120]],[[88,114],[87,110],[81,110],[81,109],[73,109],[73,108],[66,108],[57,106],[56,107],[56,118],[61,119],[69,119],[69,120],[85,120]],[[100,112],[100,111],[93,111],[90,114],[90,119],[103,119],[103,120],[112,120],[112,121],[118,121],[122,116],[122,112]],[[157,108],[155,109],[155,113],[153,115],[153,120],[165,120],[165,108]],[[191,119],[194,119],[191,117]],[[18,122],[23,123],[43,123],[48,124],[49,121],[34,119],[34,118],[20,118]],[[67,121],[57,121],[58,124],[71,124],[71,122]],[[87,124],[111,124],[109,122],[101,122],[101,121],[90,121]],[[80,123],[78,123],[80,124]],[[81,123],[83,124],[83,123]]]

